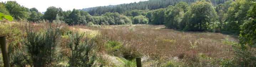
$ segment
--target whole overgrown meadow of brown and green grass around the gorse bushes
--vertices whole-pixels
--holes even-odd
[[[85,33],[82,39],[94,41],[92,52],[96,54],[93,65],[106,67],[136,67],[135,58],[142,58],[143,67],[211,67],[219,66],[216,59],[231,58],[232,44],[237,43],[234,35],[210,32],[182,32],[165,29],[164,25],[130,24],[106,26],[68,26],[65,23],[20,23],[0,22],[0,35],[7,37],[10,63],[13,66],[29,66],[26,58],[26,29],[46,32],[47,27],[60,28],[58,55],[61,61],[51,63],[68,66],[69,34]],[[234,40],[225,41],[226,40]],[[2,62],[2,57],[0,58]],[[30,67],[30,66],[29,66]]]

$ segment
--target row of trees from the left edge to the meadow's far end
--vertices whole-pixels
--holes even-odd
[[[89,22],[98,25],[117,25],[131,24],[132,20],[127,16],[115,13],[104,13],[102,16],[91,16],[88,12],[73,9],[72,11],[63,11],[60,7],[48,7],[44,14],[40,13],[36,8],[26,8],[21,6],[16,1],[0,2],[0,12],[5,15],[11,15],[18,21],[49,21],[49,22],[66,22],[69,25],[83,24]]]

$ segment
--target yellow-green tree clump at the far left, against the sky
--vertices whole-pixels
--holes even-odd
[[[21,6],[16,1],[7,1],[7,2],[0,2],[0,12],[4,13],[5,15],[11,15],[17,20],[30,20],[30,21],[37,21],[37,19],[41,19],[42,13],[38,12],[35,8],[27,8]]]

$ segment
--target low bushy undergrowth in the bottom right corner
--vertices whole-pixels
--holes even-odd
[[[213,65],[218,64],[222,67],[255,67],[256,57],[253,53],[255,50],[248,50],[240,44],[232,45],[232,52],[234,56],[231,58],[218,58],[218,59],[210,59],[207,57],[206,59],[212,60]]]

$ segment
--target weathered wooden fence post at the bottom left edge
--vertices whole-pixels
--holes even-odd
[[[7,49],[6,49],[5,37],[0,37],[0,45],[1,45],[1,50],[2,50],[2,58],[4,60],[4,67],[10,67],[9,57],[8,57]]]

